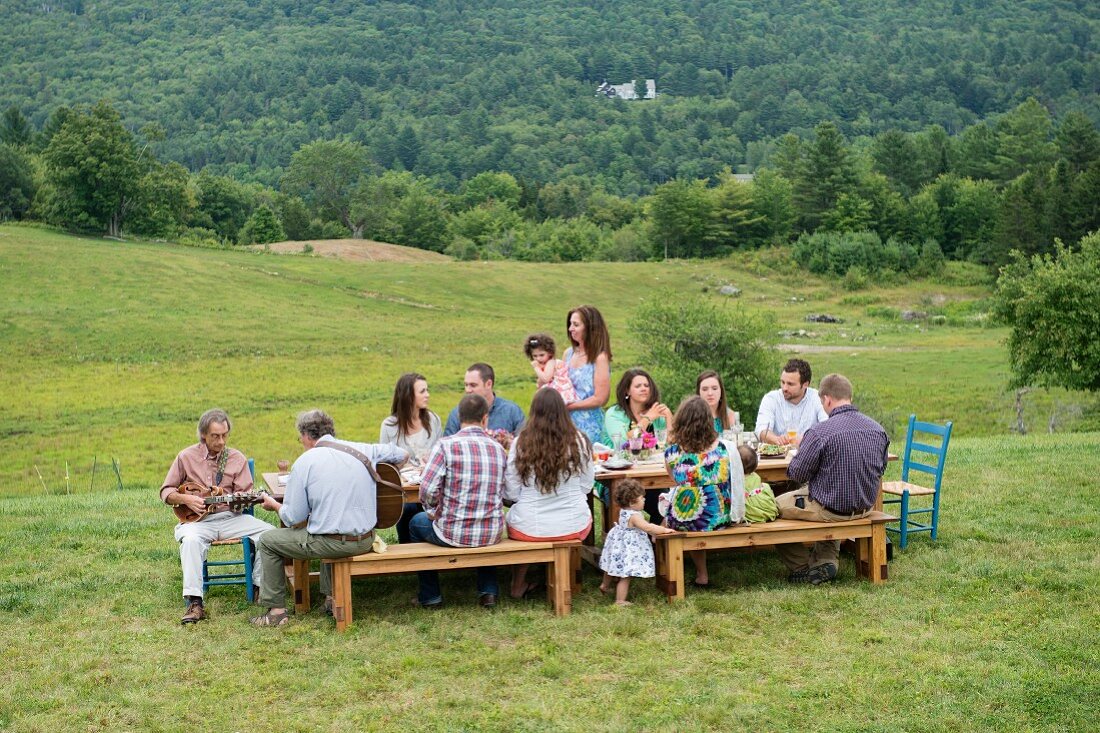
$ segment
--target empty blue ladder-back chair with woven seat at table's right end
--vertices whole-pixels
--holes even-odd
[[[920,435],[917,435],[920,434]],[[944,480],[944,462],[947,460],[947,444],[952,439],[952,423],[936,425],[922,423],[916,415],[909,416],[909,430],[905,433],[905,457],[901,464],[901,481],[886,481],[882,493],[898,496],[884,499],[882,504],[901,504],[898,526],[887,525],[887,532],[898,535],[901,549],[909,545],[909,536],[914,532],[927,532],[936,538],[939,528],[939,488]],[[923,453],[914,457],[913,453]],[[910,471],[921,471],[932,475],[932,486],[910,483]],[[911,508],[910,499],[914,496],[932,496],[932,506]],[[911,518],[915,514],[931,514],[932,522],[922,524]]]

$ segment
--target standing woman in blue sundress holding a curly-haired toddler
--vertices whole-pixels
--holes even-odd
[[[604,404],[612,393],[612,337],[603,315],[594,306],[578,306],[565,317],[565,330],[573,346],[562,361],[576,391],[576,402],[568,409],[573,424],[592,442],[604,440]]]

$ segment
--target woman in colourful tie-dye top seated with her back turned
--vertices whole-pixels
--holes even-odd
[[[684,398],[672,418],[664,464],[675,482],[664,524],[680,532],[710,532],[729,524],[734,491],[745,492],[741,457],[718,439],[714,416],[703,397]],[[706,550],[689,553],[696,588],[708,588]]]

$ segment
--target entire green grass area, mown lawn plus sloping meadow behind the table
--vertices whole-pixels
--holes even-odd
[[[965,284],[971,270],[848,293],[782,253],[341,263],[8,226],[0,275],[0,730],[1100,726],[1100,434],[1008,433],[1005,332],[983,325],[988,285]],[[716,590],[678,606],[637,583],[636,605],[616,609],[588,569],[568,619],[535,602],[484,613],[472,576],[450,573],[438,614],[408,608],[411,577],[356,582],[343,635],[317,611],[252,628],[235,588],[211,593],[209,622],[178,625],[174,519],[155,490],[204,408],[227,407],[231,442],[270,469],[297,455],[306,407],[373,437],[407,370],[427,374],[440,413],[474,360],[525,404],[519,341],[563,338],[571,305],[607,316],[616,373],[645,364],[631,307],[724,282],[776,315],[777,373],[805,353],[818,374],[850,375],[892,428],[910,411],[956,420],[941,539],[913,540],[886,586],[857,581],[846,558],[834,586],[790,587],[765,550],[714,558]],[[914,326],[900,309],[945,322]],[[812,313],[845,322],[807,324]],[[1097,427],[1090,397],[1027,400],[1033,430],[1052,409],[1064,428]]]

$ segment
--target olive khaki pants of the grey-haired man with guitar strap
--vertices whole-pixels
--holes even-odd
[[[263,568],[260,583],[260,605],[268,609],[286,608],[286,572],[283,559],[312,560],[354,557],[371,551],[374,533],[349,543],[326,535],[311,535],[299,529],[272,529],[256,540],[256,557]],[[321,594],[332,595],[332,567],[321,564]]]

